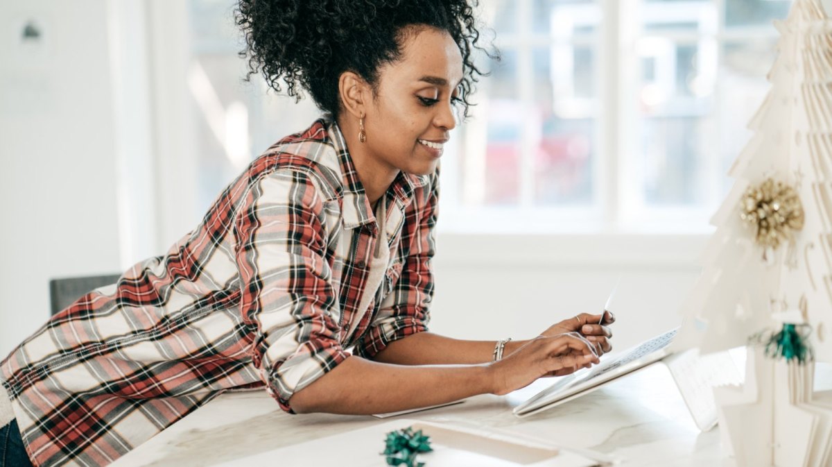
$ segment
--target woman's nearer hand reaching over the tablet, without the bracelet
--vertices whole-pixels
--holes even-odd
[[[492,392],[506,395],[542,376],[569,375],[599,361],[592,343],[577,332],[539,336],[488,365],[493,372]]]

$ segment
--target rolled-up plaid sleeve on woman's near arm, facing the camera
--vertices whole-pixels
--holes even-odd
[[[255,327],[252,360],[280,408],[349,354],[324,258],[324,204],[311,176],[283,169],[255,183],[235,224],[240,310]]]

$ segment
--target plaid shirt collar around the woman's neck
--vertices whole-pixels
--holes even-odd
[[[374,222],[373,208],[369,204],[364,185],[359,180],[359,174],[355,171],[352,157],[349,156],[344,133],[341,132],[338,123],[335,122],[331,114],[324,116],[323,120],[324,127],[326,127],[329,135],[329,141],[335,150],[336,156],[338,156],[341,170],[342,196],[344,197],[341,212],[344,216],[344,227],[354,228]],[[424,186],[426,183],[428,183],[428,176],[416,176],[399,171],[399,175],[390,184],[384,198],[393,196],[399,207],[404,211],[404,208],[409,206],[413,200],[414,189]]]

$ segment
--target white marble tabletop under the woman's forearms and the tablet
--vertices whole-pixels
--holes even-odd
[[[401,416],[531,436],[562,449],[592,451],[599,459],[611,459],[622,466],[735,466],[721,447],[719,427],[706,432],[696,428],[664,365],[648,366],[526,419],[512,414],[513,407],[551,384],[552,380],[538,380],[510,395],[479,395],[463,404]],[[112,466],[203,467],[228,463],[389,420],[288,415],[265,390],[229,393],[194,411]],[[349,461],[342,465],[349,465]],[[379,465],[384,465],[381,457]]]

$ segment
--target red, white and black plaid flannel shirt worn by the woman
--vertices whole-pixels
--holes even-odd
[[[349,347],[372,358],[426,330],[437,177],[400,173],[389,187],[390,261],[365,291],[379,231],[338,126],[324,118],[270,147],[166,255],[2,361],[33,463],[110,464],[225,390],[265,386],[291,411]]]

